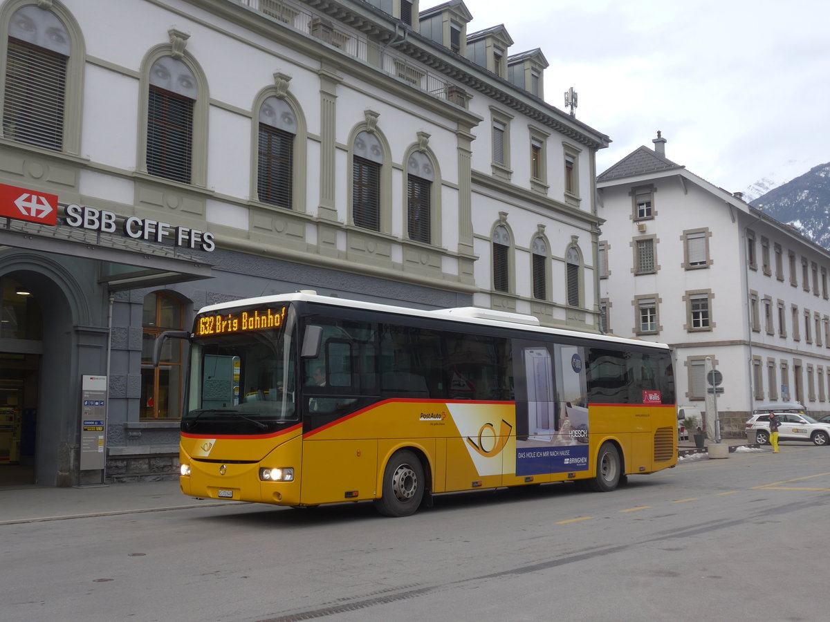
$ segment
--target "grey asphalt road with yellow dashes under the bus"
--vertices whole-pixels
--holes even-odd
[[[185,498],[186,499],[186,498]],[[0,525],[0,620],[827,620],[830,448],[371,503]]]

